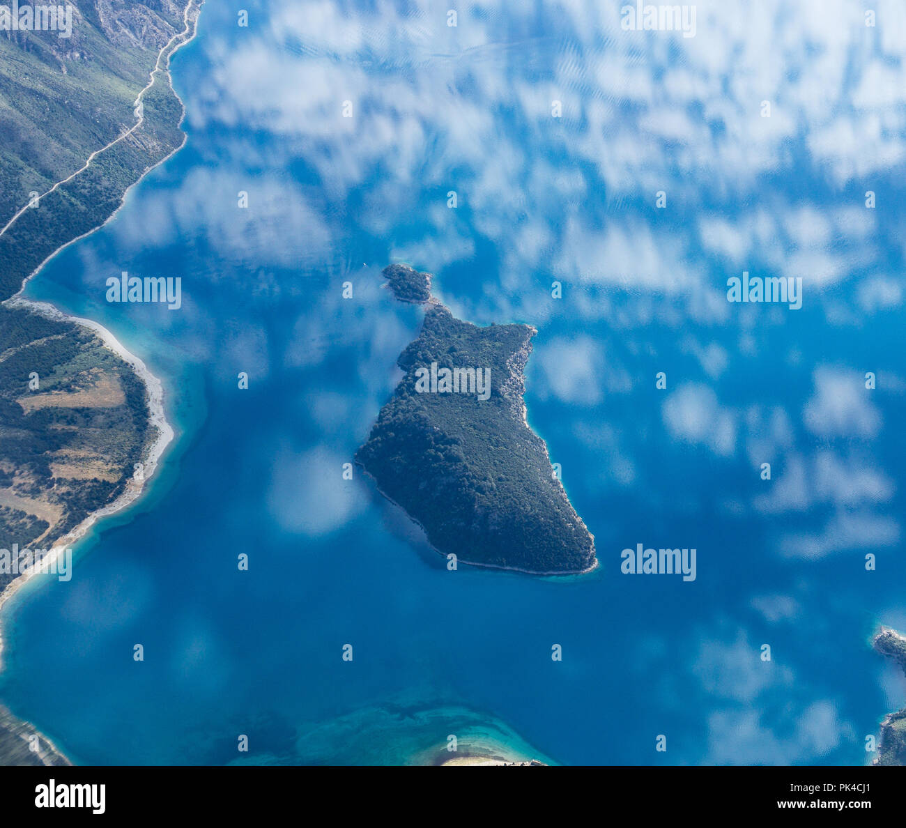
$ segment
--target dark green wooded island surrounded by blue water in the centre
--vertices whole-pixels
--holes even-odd
[[[383,274],[406,302],[430,284],[408,265]],[[523,371],[535,328],[479,327],[429,294],[420,301],[421,332],[398,360],[406,375],[356,462],[440,554],[533,574],[593,569],[593,535],[526,420]]]

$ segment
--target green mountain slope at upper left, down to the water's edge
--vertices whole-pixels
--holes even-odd
[[[194,21],[199,4],[190,2]],[[43,195],[136,125],[135,101],[161,48],[183,31],[184,7],[82,0],[68,41],[54,33],[0,36],[0,226],[31,193]],[[60,246],[101,226],[125,190],[182,143],[182,106],[167,72],[156,73],[142,104],[137,130],[0,236],[0,300]]]

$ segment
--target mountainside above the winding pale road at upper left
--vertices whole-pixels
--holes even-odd
[[[73,5],[70,38],[0,33],[0,226],[135,123],[133,102],[182,29],[183,3]]]

